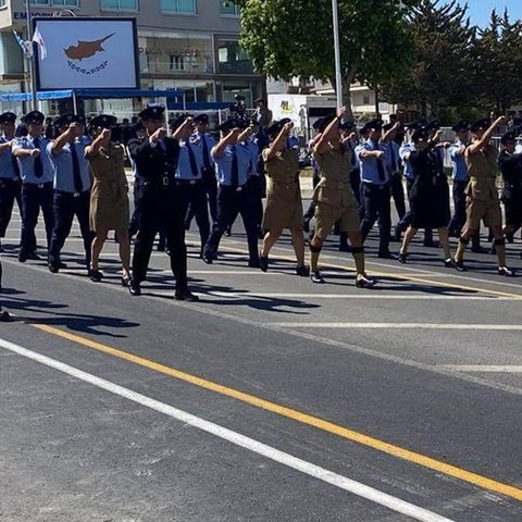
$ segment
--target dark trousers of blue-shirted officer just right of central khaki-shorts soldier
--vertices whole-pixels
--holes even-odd
[[[366,239],[378,217],[378,251],[387,252],[391,228],[389,184],[374,185],[362,182],[361,196],[364,207],[364,217],[361,222],[362,238]]]

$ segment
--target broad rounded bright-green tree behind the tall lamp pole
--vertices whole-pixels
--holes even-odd
[[[343,91],[348,108],[352,82],[377,86],[408,70],[405,18],[419,1],[338,1]],[[313,76],[335,86],[331,0],[233,3],[241,8],[241,46],[257,71],[282,79]]]

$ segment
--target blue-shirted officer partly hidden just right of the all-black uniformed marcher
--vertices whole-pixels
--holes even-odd
[[[210,234],[209,209],[207,204],[207,190],[203,179],[204,165],[201,157],[196,153],[196,146],[190,142],[194,132],[194,119],[190,115],[179,116],[172,125],[175,137],[179,142],[179,158],[175,173],[175,184],[182,194],[185,204],[185,215],[188,207],[196,216],[201,239],[200,257]],[[204,138],[202,138],[204,139]]]

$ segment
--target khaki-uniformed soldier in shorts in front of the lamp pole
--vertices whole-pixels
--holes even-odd
[[[356,262],[358,287],[373,286],[375,279],[366,276],[364,271],[364,247],[362,246],[359,211],[356,197],[350,186],[351,150],[340,142],[339,124],[346,108],[337,116],[323,119],[319,132],[321,138],[313,148],[321,181],[313,191],[315,207],[315,234],[310,241],[311,278],[313,283],[324,283],[318,269],[319,254],[323,241],[338,221],[340,232],[346,232],[351,244],[351,253]]]

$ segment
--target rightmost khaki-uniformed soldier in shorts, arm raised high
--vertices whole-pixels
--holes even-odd
[[[498,151],[489,142],[495,128],[502,125],[505,121],[504,116],[495,120],[493,124],[489,120],[481,120],[471,127],[472,142],[464,152],[465,165],[470,175],[470,183],[467,187],[467,222],[455,256],[456,269],[460,272],[467,270],[463,263],[465,247],[483,220],[484,224],[492,228],[495,237],[498,275],[514,275],[513,271],[506,266],[506,239],[496,185]]]

